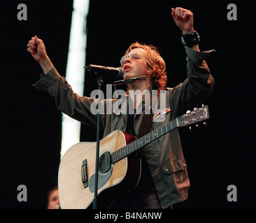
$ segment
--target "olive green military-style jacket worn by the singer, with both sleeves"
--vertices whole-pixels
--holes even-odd
[[[174,88],[165,89],[166,108],[170,108],[170,111],[167,110],[162,121],[152,121],[150,131],[169,123],[184,114],[187,109],[198,107],[213,89],[214,79],[204,61],[213,50],[195,52],[188,47],[185,47],[185,50],[187,52],[187,79]],[[92,114],[90,109],[96,99],[74,93],[66,79],[60,76],[55,68],[43,75],[34,86],[55,97],[57,108],[60,111],[82,123],[97,126],[97,114]],[[127,126],[127,114],[122,114],[122,112],[106,114],[106,105],[110,100],[111,103],[114,103],[118,99],[104,100],[105,106],[104,112],[102,112],[104,114],[101,114],[101,128],[104,129],[104,137],[113,130],[125,132]],[[137,135],[142,117],[143,112],[134,115],[134,130]],[[162,208],[168,208],[173,203],[187,199],[190,180],[187,175],[187,163],[180,145],[178,128],[144,146],[143,153],[148,162]]]

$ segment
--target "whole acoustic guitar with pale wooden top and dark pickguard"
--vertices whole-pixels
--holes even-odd
[[[97,208],[108,208],[121,194],[132,190],[141,176],[138,149],[178,127],[209,118],[208,106],[188,111],[173,121],[136,139],[115,130],[99,143]],[[59,165],[58,189],[62,209],[92,208],[96,163],[96,142],[80,142],[69,148]]]

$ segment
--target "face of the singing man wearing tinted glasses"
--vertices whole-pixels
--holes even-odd
[[[134,55],[131,55],[134,54]],[[132,49],[126,58],[122,61],[122,68],[124,69],[124,79],[132,77],[139,77],[146,75],[146,63],[143,61],[144,49]],[[130,56],[131,55],[131,56]]]

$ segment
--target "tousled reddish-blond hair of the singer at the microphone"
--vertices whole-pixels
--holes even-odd
[[[159,94],[167,84],[166,66],[164,59],[162,59],[158,49],[153,45],[138,42],[132,43],[125,52],[125,55],[129,54],[132,49],[136,48],[145,50],[145,53],[143,54],[143,60],[147,66],[146,71],[151,77],[151,82],[153,85],[152,89],[157,90],[157,93]]]

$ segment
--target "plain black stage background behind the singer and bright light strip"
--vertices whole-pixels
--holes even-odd
[[[27,21],[17,20],[26,3]],[[237,6],[237,21],[227,20],[227,5]],[[186,78],[185,49],[171,17],[171,7],[194,13],[200,49],[216,49],[206,59],[215,87],[205,104],[207,128],[180,129],[191,181],[187,201],[173,208],[256,208],[255,192],[255,13],[253,1],[90,1],[87,61],[118,67],[134,41],[159,47],[166,61],[168,86]],[[0,208],[46,208],[48,191],[57,185],[62,114],[55,100],[34,89],[41,67],[27,52],[37,35],[61,75],[66,72],[73,1],[1,1],[1,160]],[[104,77],[104,84],[113,84]],[[85,95],[97,89],[85,75]],[[76,89],[74,89],[76,91]],[[85,125],[81,141],[95,141]],[[27,186],[27,202],[17,201],[18,185]],[[227,201],[236,185],[237,201]]]

